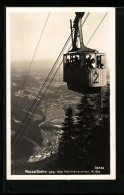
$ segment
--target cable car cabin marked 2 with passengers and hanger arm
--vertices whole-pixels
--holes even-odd
[[[84,46],[82,17],[85,12],[76,12],[71,24],[72,49],[63,55],[63,82],[68,89],[79,93],[97,93],[106,86],[106,55]],[[77,47],[77,38],[80,48]]]

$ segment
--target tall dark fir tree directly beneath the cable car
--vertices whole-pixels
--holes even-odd
[[[77,130],[77,161],[78,166],[88,165],[89,146],[93,143],[95,132],[95,110],[91,104],[90,97],[82,95],[80,103],[77,105],[76,130]]]

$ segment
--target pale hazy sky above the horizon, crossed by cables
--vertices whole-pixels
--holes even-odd
[[[82,10],[84,11],[84,10]],[[11,62],[30,62],[44,23],[49,12],[11,12],[10,14],[10,57]],[[89,41],[94,30],[106,12],[91,12],[84,24],[84,44]],[[74,12],[50,12],[50,16],[37,49],[35,61],[55,61],[70,35],[70,19]],[[109,13],[88,44],[88,47],[99,52],[109,52]],[[70,42],[71,43],[71,42]],[[69,44],[70,45],[70,44]],[[69,46],[68,45],[68,46]]]

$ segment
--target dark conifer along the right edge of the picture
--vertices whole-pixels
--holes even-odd
[[[92,147],[89,147],[89,162],[94,168],[95,166],[104,167],[103,173],[110,171],[110,112],[109,112],[109,86],[104,89],[102,97],[101,121],[96,127],[93,138]]]

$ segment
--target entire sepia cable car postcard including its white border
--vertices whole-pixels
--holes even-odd
[[[9,180],[115,180],[115,8],[6,8]]]

